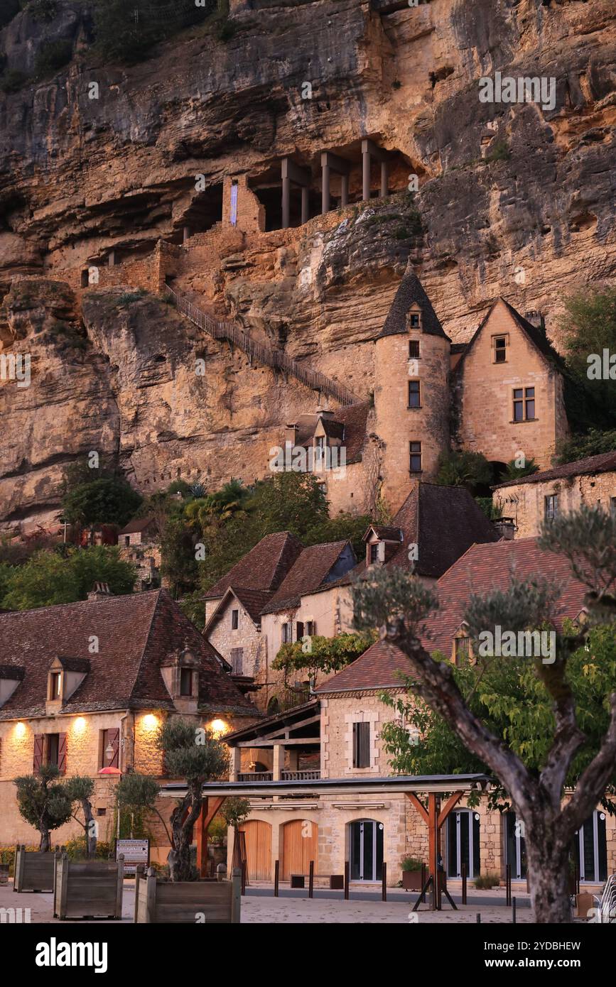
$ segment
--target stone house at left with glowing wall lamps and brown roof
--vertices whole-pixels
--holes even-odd
[[[216,733],[259,718],[228,666],[165,589],[0,614],[0,844],[37,844],[19,814],[13,779],[57,764],[96,780],[99,838],[113,840],[116,778],[104,768],[163,777],[153,740],[182,715]],[[168,808],[168,804],[166,806]],[[152,858],[169,847],[153,823]],[[77,823],[54,843],[81,835]]]

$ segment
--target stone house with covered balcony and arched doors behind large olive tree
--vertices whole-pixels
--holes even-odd
[[[457,660],[468,648],[462,615],[470,593],[506,587],[512,569],[522,578],[557,580],[557,625],[580,615],[584,587],[563,557],[541,552],[534,539],[473,545],[435,583],[441,610],[427,621],[424,646]],[[340,875],[349,861],[350,879],[370,883],[380,880],[386,862],[388,883],[396,884],[406,856],[426,861],[425,826],[381,739],[382,724],[398,714],[379,696],[402,695],[400,672],[409,669],[403,652],[378,642],[317,686],[307,703],[226,736],[228,794],[250,793],[252,811],[242,827],[250,879],[271,880],[276,860],[281,879],[307,874],[310,861],[317,874]],[[224,789],[217,786],[215,794]],[[453,780],[448,790],[455,790]],[[515,822],[512,811],[490,812],[486,797],[473,809],[463,797],[443,827],[448,876],[459,877],[465,863],[470,876],[503,878],[508,863],[512,879],[523,881],[524,841]],[[599,806],[577,834],[576,852],[584,884],[598,884],[616,869],[616,820]]]

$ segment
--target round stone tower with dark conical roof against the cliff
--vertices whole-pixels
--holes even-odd
[[[384,442],[382,496],[396,509],[414,480],[434,479],[449,449],[449,356],[422,283],[409,266],[376,338],[374,411]]]

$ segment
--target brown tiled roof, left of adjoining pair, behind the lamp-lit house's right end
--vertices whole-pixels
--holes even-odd
[[[289,531],[266,535],[238,563],[229,569],[204,595],[206,600],[222,596],[229,586],[275,591],[302,551],[300,542]]]

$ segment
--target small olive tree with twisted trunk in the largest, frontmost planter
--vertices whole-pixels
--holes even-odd
[[[163,723],[156,744],[164,755],[168,773],[186,779],[187,783],[187,794],[178,800],[171,813],[172,850],[168,858],[171,879],[194,880],[192,830],[203,803],[202,787],[226,772],[227,748],[211,731],[195,728],[191,721],[180,717]]]

